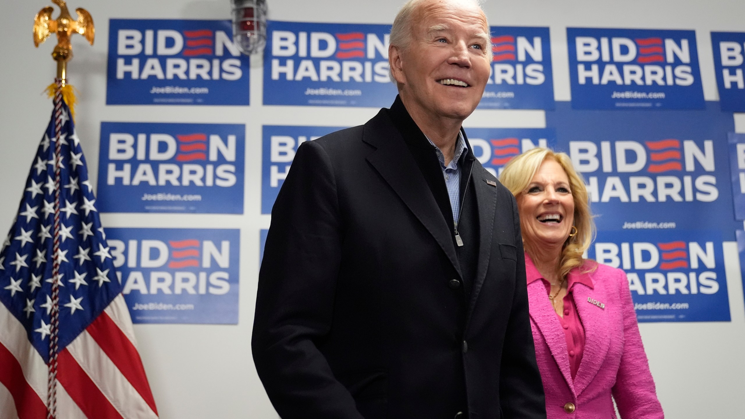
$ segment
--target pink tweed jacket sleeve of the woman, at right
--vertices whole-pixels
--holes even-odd
[[[641,344],[636,323],[634,303],[629,281],[621,271],[619,278],[621,304],[624,310],[624,354],[618,367],[618,376],[612,388],[618,412],[624,419],[662,419],[662,406],[657,400],[654,380],[650,373],[647,354]]]

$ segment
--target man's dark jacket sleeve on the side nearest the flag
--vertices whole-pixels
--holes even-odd
[[[272,209],[251,341],[283,419],[362,419],[316,344],[332,323],[340,242],[331,160],[320,144],[304,142]]]

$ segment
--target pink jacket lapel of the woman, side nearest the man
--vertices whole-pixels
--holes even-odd
[[[527,285],[527,300],[530,306],[530,318],[538,325],[543,338],[554,356],[554,361],[559,366],[559,370],[569,388],[574,391],[574,380],[571,379],[569,370],[569,353],[566,347],[566,340],[561,324],[551,306],[551,301],[546,296],[546,287],[541,280],[533,281]],[[581,371],[581,367],[580,367]],[[577,394],[575,392],[575,394]]]

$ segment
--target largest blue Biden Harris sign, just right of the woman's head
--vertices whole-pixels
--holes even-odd
[[[599,230],[692,228],[734,239],[727,133],[732,113],[706,110],[546,112],[558,148],[588,185]]]

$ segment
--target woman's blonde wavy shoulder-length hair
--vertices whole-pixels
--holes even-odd
[[[564,169],[569,178],[571,196],[574,199],[574,227],[577,228],[577,234],[568,237],[564,242],[557,272],[559,277],[563,278],[572,269],[585,264],[586,259],[582,255],[595,239],[595,221],[592,220],[587,187],[582,175],[574,170],[571,159],[565,153],[557,153],[549,148],[536,147],[510,160],[510,163],[504,166],[504,170],[499,175],[499,181],[507,189],[510,189],[515,198],[519,198],[519,195],[525,192],[530,181],[533,180],[533,176],[536,175],[542,163],[548,159],[559,163],[559,166]],[[528,254],[532,253],[532,243],[526,241],[523,237],[523,244],[525,251]],[[592,270],[592,268],[595,268],[595,264],[589,268]]]

